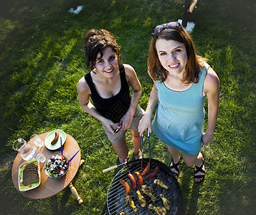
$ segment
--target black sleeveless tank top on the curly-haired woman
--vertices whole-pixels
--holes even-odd
[[[85,80],[90,87],[90,97],[93,100],[93,105],[105,118],[113,123],[119,123],[120,119],[128,111],[131,97],[128,82],[125,78],[125,68],[119,65],[121,88],[117,95],[109,98],[100,97],[93,83],[90,72],[85,75]]]

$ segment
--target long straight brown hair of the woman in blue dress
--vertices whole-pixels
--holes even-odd
[[[196,49],[194,48],[194,42],[191,36],[182,27],[179,27],[179,29],[176,30],[164,29],[159,34],[153,35],[148,54],[148,71],[153,80],[164,82],[167,77],[167,71],[161,65],[156,52],[157,39],[172,39],[185,44],[188,61],[185,67],[186,71],[184,73],[183,82],[186,85],[189,85],[192,82],[197,83],[199,81],[200,69],[207,59],[196,54]]]

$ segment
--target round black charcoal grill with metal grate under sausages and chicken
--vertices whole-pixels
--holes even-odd
[[[143,169],[146,167],[147,163],[148,158],[144,158]],[[127,174],[132,173],[134,178],[136,178],[134,172],[138,171],[139,173],[142,173],[143,171],[143,169],[141,169],[141,159],[138,159],[128,162],[126,166],[123,166],[123,168],[118,171],[118,173],[116,173],[113,180],[111,181],[108,188],[107,196],[108,213],[113,215],[119,215],[120,212],[125,212],[126,214],[135,214],[133,212],[133,209],[126,206],[125,204],[125,188],[123,188],[123,185],[120,184],[120,179],[123,179],[130,186],[131,191],[129,195],[132,197],[134,204],[138,209],[138,212],[136,214],[156,214],[155,211],[148,209],[148,205],[153,204],[153,206],[163,206],[163,201],[159,197],[160,194],[163,194],[163,196],[165,196],[166,199],[169,199],[169,201],[171,202],[171,209],[167,211],[167,214],[179,214],[182,205],[182,194],[179,183],[176,181],[175,176],[171,173],[168,166],[166,166],[164,163],[161,163],[160,161],[151,159],[151,171],[156,168],[156,166],[160,167],[160,171],[158,172],[156,177],[147,180],[143,176],[143,185],[151,187],[153,195],[156,196],[156,201],[152,201],[149,196],[143,194],[141,188],[138,187],[138,183],[135,191],[133,191],[131,188],[131,182]],[[157,187],[153,183],[156,178],[160,179],[161,181],[163,181],[163,183],[169,186],[169,189],[166,190],[165,188],[161,188],[160,186]],[[145,208],[142,208],[138,203],[138,196],[136,194],[137,190],[139,190],[146,199],[147,206]]]

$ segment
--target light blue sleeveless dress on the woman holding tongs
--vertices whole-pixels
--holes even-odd
[[[209,65],[199,72],[199,82],[184,91],[171,90],[156,81],[158,108],[152,122],[153,133],[167,145],[189,155],[201,151],[204,129],[203,86]]]

